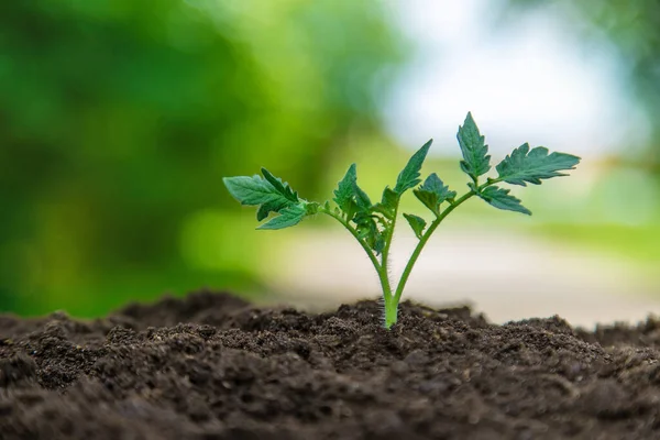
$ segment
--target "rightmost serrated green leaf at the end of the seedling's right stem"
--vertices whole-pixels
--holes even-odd
[[[526,186],[526,182],[540,185],[541,179],[566,176],[562,169],[575,169],[580,157],[565,153],[548,154],[548,148],[537,146],[529,150],[525,143],[513,151],[497,166],[498,179],[507,184]]]

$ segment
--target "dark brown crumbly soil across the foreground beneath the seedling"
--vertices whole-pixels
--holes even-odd
[[[223,294],[0,315],[1,439],[660,439],[660,321],[576,330]]]

